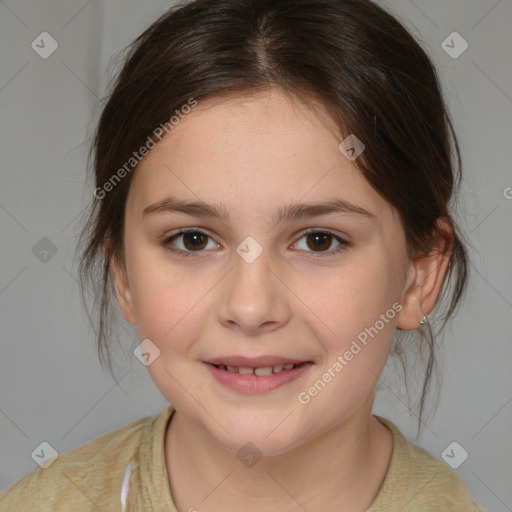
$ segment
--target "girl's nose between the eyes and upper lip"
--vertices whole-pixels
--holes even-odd
[[[272,332],[290,320],[290,292],[276,261],[263,251],[254,261],[238,253],[220,289],[217,315],[227,328],[254,335]]]

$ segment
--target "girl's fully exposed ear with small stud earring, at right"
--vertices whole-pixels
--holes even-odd
[[[434,309],[450,263],[453,227],[447,219],[438,219],[437,229],[427,254],[411,262],[397,327],[412,330]]]

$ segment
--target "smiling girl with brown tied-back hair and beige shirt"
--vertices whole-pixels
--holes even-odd
[[[457,141],[402,25],[367,0],[171,9],[131,46],[94,151],[81,269],[100,356],[113,289],[172,405],[0,510],[480,510],[372,415],[407,341],[429,355],[421,421],[427,315],[454,313],[467,270]]]

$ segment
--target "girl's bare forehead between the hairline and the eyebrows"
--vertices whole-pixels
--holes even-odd
[[[321,105],[279,90],[200,101],[139,164],[129,202],[142,211],[169,195],[271,215],[285,203],[341,198],[393,215],[340,142]]]

